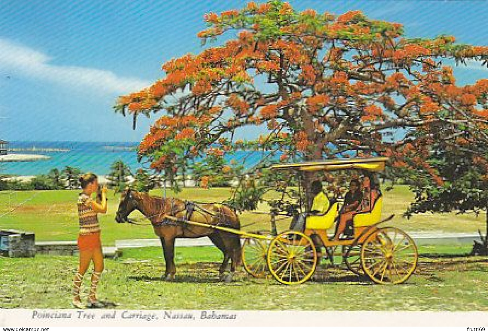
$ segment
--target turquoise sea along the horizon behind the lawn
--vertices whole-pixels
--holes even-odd
[[[54,168],[61,171],[65,166],[71,166],[82,172],[106,175],[116,160],[122,160],[133,172],[141,168],[148,169],[148,162],[137,161],[137,146],[137,142],[10,141],[8,148],[15,151],[9,151],[9,154],[43,155],[50,159],[0,162],[0,174],[39,175],[47,174]],[[260,152],[238,151],[226,158],[242,162],[247,169],[254,166],[262,156]]]

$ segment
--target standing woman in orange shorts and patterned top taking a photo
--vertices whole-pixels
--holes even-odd
[[[74,279],[73,305],[78,309],[102,308],[104,306],[103,303],[97,299],[98,281],[103,271],[98,214],[107,212],[107,188],[103,187],[99,192],[98,177],[93,173],[86,173],[80,176],[79,180],[83,189],[83,192],[78,195],[77,203],[80,221],[80,233],[78,235],[80,264]],[[94,193],[98,193],[96,201],[91,197]],[[91,261],[93,261],[94,269],[91,275],[88,305],[85,307],[80,299],[80,287]]]

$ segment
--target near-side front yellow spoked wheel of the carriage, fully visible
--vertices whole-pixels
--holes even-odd
[[[317,251],[310,237],[295,231],[278,234],[269,244],[267,262],[273,277],[286,285],[307,281],[317,267]]]

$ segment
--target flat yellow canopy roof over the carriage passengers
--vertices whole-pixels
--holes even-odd
[[[386,157],[358,158],[358,159],[328,159],[302,161],[297,163],[276,164],[273,170],[295,170],[301,172],[363,170],[368,172],[382,172],[385,170]]]

